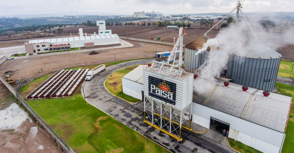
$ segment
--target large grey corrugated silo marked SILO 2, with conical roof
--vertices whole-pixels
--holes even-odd
[[[229,54],[227,78],[233,83],[273,91],[281,55],[258,40]]]

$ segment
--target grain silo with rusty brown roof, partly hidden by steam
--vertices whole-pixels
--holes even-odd
[[[197,70],[207,60],[209,55],[208,51],[211,49],[210,47],[208,47],[207,50],[203,53],[200,53],[196,56],[195,54],[199,49],[204,47],[203,44],[206,43],[208,39],[210,38],[203,36],[185,46],[184,64],[186,70]]]

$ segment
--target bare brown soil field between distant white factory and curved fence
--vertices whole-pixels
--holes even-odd
[[[47,68],[52,68],[52,67],[67,64],[67,63],[114,58],[114,53],[116,53],[116,58],[118,60],[119,57],[155,53],[155,48],[157,48],[157,52],[163,52],[163,51],[171,49],[171,46],[167,46],[167,45],[145,43],[140,41],[130,41],[130,40],[125,40],[125,41],[128,41],[134,46],[128,47],[128,48],[118,48],[118,49],[96,51],[99,53],[97,55],[88,55],[89,53],[91,53],[91,51],[87,51],[87,52],[80,52],[80,53],[52,55],[52,56],[39,56],[39,57],[32,56],[31,58],[27,58],[27,59],[7,60],[0,65],[0,74],[2,77],[4,77],[5,75],[11,75],[11,78],[13,80],[18,80],[18,78],[22,80],[29,77],[30,75],[33,75],[39,72],[41,68],[46,70]],[[140,56],[137,56],[137,57],[139,58]],[[142,58],[145,58],[145,57],[142,57]],[[83,63],[81,63],[81,65],[82,64]],[[7,71],[11,71],[11,72],[4,74]]]

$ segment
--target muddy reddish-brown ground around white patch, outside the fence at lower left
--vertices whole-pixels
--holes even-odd
[[[15,99],[10,91],[0,82],[0,110],[11,105]],[[31,131],[32,130],[32,131]],[[52,137],[38,124],[26,120],[16,130],[0,131],[0,152],[2,153],[63,153]]]

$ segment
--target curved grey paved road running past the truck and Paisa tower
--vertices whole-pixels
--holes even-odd
[[[87,102],[146,136],[146,123],[143,122],[144,114],[142,113],[144,103],[129,103],[113,96],[107,92],[104,83],[106,78],[117,70],[132,65],[151,62],[152,59],[136,60],[107,67],[106,71],[98,73],[91,81],[85,81],[83,83]],[[217,141],[208,139],[208,137],[220,137],[219,135],[220,134],[216,134],[216,132],[210,130],[205,134],[197,134],[182,129],[183,141],[178,141],[168,134],[148,125],[148,137],[171,152],[234,152],[228,145],[225,145],[225,138],[221,138]]]

